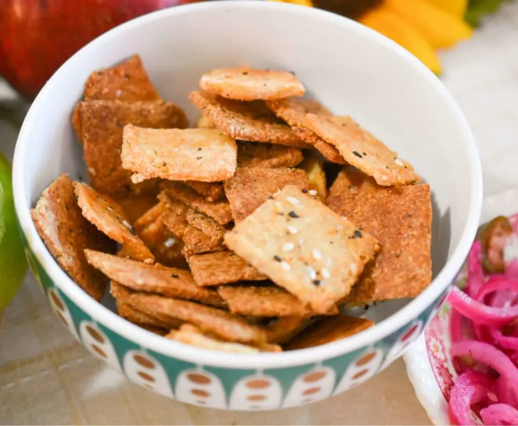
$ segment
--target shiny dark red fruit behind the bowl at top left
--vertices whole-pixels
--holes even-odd
[[[0,75],[32,99],[73,53],[153,10],[203,0],[0,0]]]

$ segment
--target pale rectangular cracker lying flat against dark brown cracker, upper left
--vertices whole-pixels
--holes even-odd
[[[216,129],[144,129],[124,126],[122,167],[131,180],[218,182],[236,171],[236,141]]]

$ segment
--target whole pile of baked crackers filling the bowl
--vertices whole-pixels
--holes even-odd
[[[291,72],[214,69],[189,128],[138,55],[92,73],[71,111],[90,183],[41,194],[41,238],[95,300],[109,287],[120,316],[182,343],[277,352],[369,328],[341,308],[431,280],[430,188],[304,93]]]

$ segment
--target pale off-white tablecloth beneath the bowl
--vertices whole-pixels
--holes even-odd
[[[518,187],[518,4],[443,52],[444,84],[477,138],[484,194]],[[0,86],[0,97],[11,96]],[[0,122],[0,149],[16,133]],[[37,141],[35,141],[37,143]],[[1,424],[429,424],[401,360],[359,388],[303,408],[230,413],[125,381],[75,343],[27,276],[0,330]]]

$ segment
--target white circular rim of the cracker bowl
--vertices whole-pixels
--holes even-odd
[[[385,49],[391,50],[396,55],[402,56],[409,67],[414,68],[416,73],[421,74],[424,81],[432,86],[437,95],[442,98],[444,106],[450,109],[453,118],[459,124],[464,136],[463,144],[469,160],[471,178],[471,185],[469,188],[469,214],[464,222],[465,224],[461,238],[459,239],[458,245],[453,251],[450,260],[444,265],[440,273],[435,277],[430,285],[418,297],[405,305],[405,307],[399,309],[396,313],[377,323],[372,328],[346,339],[339,340],[338,342],[291,352],[264,352],[257,354],[225,353],[221,356],[221,352],[185,345],[143,330],[137,325],[119,317],[102,304],[97,303],[84,293],[84,291],[81,290],[73,280],[71,280],[71,278],[54,260],[39,237],[31,218],[31,206],[25,201],[26,198],[30,197],[27,197],[26,190],[23,185],[24,160],[27,150],[30,149],[31,134],[34,127],[35,117],[38,116],[40,110],[45,108],[46,98],[49,93],[52,93],[52,91],[55,90],[55,86],[59,84],[62,76],[66,75],[69,69],[76,67],[77,63],[82,62],[83,58],[87,58],[98,47],[102,46],[105,41],[117,37],[121,33],[133,31],[138,27],[147,25],[157,19],[195,14],[197,11],[205,9],[228,10],[230,7],[234,9],[241,8],[252,10],[269,9],[270,13],[275,13],[276,11],[289,11],[294,15],[312,16],[314,19],[325,21],[329,24],[338,24],[343,27],[349,27],[349,30],[360,34],[362,37],[370,38],[372,42],[382,45]],[[452,95],[425,65],[423,65],[406,49],[397,45],[394,41],[358,22],[317,8],[300,7],[282,2],[257,0],[219,0],[217,2],[193,3],[158,10],[151,12],[148,15],[125,22],[103,35],[100,35],[84,46],[71,56],[71,58],[69,58],[47,81],[44,88],[40,91],[31,105],[30,110],[27,112],[17,139],[13,160],[12,181],[17,217],[28,246],[31,248],[35,257],[38,259],[55,285],[78,307],[84,310],[85,313],[87,313],[94,321],[99,321],[114,333],[120,334],[130,341],[137,342],[143,348],[148,348],[161,353],[164,356],[177,358],[194,364],[229,369],[265,370],[319,363],[325,359],[343,356],[344,354],[351,353],[363,347],[372,346],[384,337],[396,332],[402,326],[405,326],[417,318],[453,281],[458,269],[463,264],[469,248],[471,247],[471,243],[476,235],[482,208],[482,169],[478,149],[470,127]],[[215,356],[215,354],[219,354],[220,357]]]

